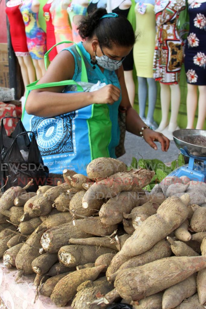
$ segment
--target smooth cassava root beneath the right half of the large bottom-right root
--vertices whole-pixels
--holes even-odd
[[[185,298],[194,295],[196,292],[196,274],[194,273],[190,277],[174,286],[170,286],[164,291],[162,309],[172,309],[181,304]]]

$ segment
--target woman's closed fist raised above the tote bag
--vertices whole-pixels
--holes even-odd
[[[120,98],[121,91],[114,85],[107,85],[99,90],[90,92],[93,104],[113,104]]]

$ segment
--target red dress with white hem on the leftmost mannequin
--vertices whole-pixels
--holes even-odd
[[[30,56],[27,48],[27,38],[25,33],[25,25],[22,19],[19,5],[21,1],[16,2],[13,6],[10,1],[6,3],[6,15],[10,23],[11,44],[16,56]]]

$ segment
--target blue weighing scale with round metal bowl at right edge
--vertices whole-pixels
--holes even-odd
[[[174,170],[169,176],[187,176],[191,180],[206,182],[206,131],[180,129],[173,133],[176,146],[189,163]]]

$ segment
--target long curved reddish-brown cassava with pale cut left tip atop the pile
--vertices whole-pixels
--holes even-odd
[[[84,208],[92,208],[96,199],[114,197],[122,191],[138,191],[150,183],[154,171],[139,168],[116,173],[107,179],[94,183],[82,199]]]

